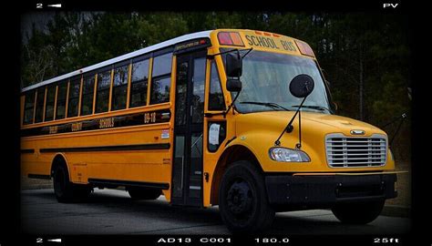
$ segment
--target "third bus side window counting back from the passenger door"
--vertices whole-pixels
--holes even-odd
[[[114,69],[114,86],[112,87],[111,110],[126,108],[128,93],[129,65]]]

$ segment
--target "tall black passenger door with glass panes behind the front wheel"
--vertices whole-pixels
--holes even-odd
[[[171,203],[202,206],[206,51],[177,56]]]

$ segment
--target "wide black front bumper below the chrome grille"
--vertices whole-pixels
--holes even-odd
[[[396,198],[396,174],[266,176],[272,205],[324,205]]]

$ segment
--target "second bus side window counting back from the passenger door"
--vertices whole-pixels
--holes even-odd
[[[149,59],[135,62],[132,65],[129,107],[139,107],[147,103],[147,87],[149,80]]]

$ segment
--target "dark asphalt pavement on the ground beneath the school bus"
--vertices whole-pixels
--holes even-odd
[[[379,216],[367,225],[340,223],[330,210],[276,214],[274,235],[404,234],[409,218]],[[227,235],[218,207],[194,209],[158,200],[131,200],[125,190],[95,190],[86,202],[58,203],[53,190],[21,191],[21,228],[31,235]]]

